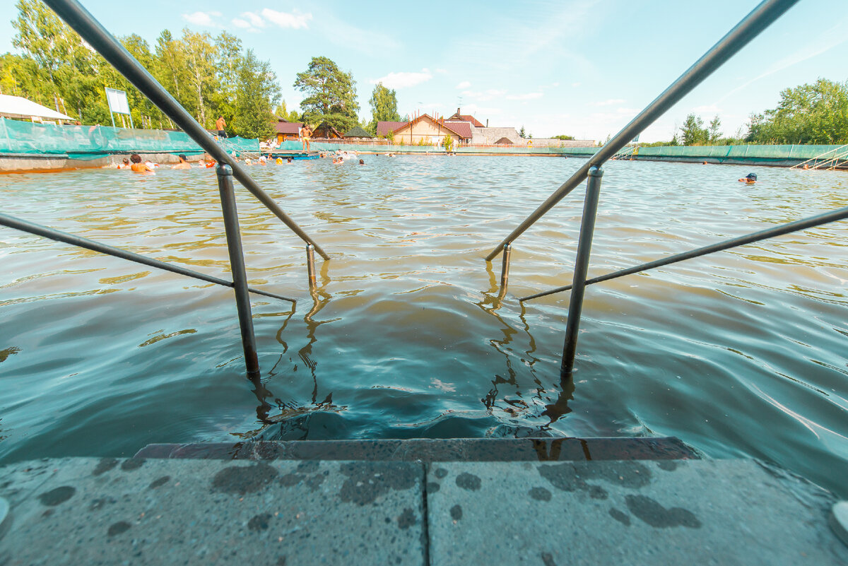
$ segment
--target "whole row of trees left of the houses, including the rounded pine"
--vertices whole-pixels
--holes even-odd
[[[137,128],[175,127],[42,0],[18,0],[15,7],[13,45],[20,53],[0,55],[0,92],[56,108],[81,124],[109,125],[104,88],[115,88],[126,91]],[[329,58],[314,57],[298,73],[294,86],[304,92],[298,113],[281,101],[271,64],[226,31],[213,37],[187,28],[180,36],[164,30],[152,46],[136,34],[119,41],[205,128],[212,129],[218,116],[225,117],[229,133],[249,138],[271,136],[278,117],[326,123],[341,132],[360,124],[353,75]],[[371,135],[378,121],[400,120],[393,90],[377,84],[370,102],[371,122],[361,125]]]

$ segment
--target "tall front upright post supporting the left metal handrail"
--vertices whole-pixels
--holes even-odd
[[[232,270],[232,289],[236,291],[236,308],[238,323],[242,329],[242,346],[244,348],[244,365],[248,370],[248,378],[259,377],[259,356],[256,353],[256,336],[254,335],[254,319],[250,311],[248,296],[248,275],[244,269],[242,252],[242,235],[238,229],[238,213],[236,211],[236,194],[232,186],[232,167],[219,164],[215,169],[218,174],[218,189],[220,191],[220,208],[224,214],[224,230],[226,230],[226,249],[230,253],[230,269]]]

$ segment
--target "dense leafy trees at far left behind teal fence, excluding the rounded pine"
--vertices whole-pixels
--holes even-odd
[[[126,91],[138,128],[174,125],[41,0],[18,0],[12,21],[20,54],[0,56],[0,89],[78,119],[111,124],[104,87]],[[201,125],[212,128],[223,115],[228,129],[244,137],[270,133],[280,87],[271,64],[223,31],[213,37],[184,29],[165,30],[153,46],[141,36],[120,37],[139,61]]]

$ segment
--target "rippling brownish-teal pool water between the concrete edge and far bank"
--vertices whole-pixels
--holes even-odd
[[[590,286],[559,380],[583,190],[483,257],[577,169],[562,158],[365,156],[250,172],[332,259],[239,188],[264,388],[232,290],[0,228],[0,458],[150,442],[678,436],[848,494],[848,225]],[[848,205],[840,172],[607,164],[589,275]],[[0,176],[3,212],[228,278],[214,171]],[[273,425],[266,426],[268,423]],[[265,428],[265,430],[263,430]]]

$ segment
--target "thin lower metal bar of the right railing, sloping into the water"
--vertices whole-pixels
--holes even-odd
[[[684,259],[698,258],[708,253],[722,252],[723,250],[730,249],[731,247],[745,246],[745,244],[750,244],[755,241],[767,240],[768,238],[773,238],[774,236],[783,236],[784,234],[789,234],[790,232],[806,230],[807,228],[813,228],[815,226],[828,224],[830,222],[837,222],[839,220],[844,219],[848,219],[848,207],[837,208],[836,210],[833,210],[828,213],[818,214],[817,216],[811,216],[806,219],[795,220],[795,222],[789,222],[787,224],[775,226],[774,228],[761,230],[759,232],[752,232],[745,236],[733,238],[732,240],[726,240],[719,243],[711,244],[709,246],[699,247],[695,250],[690,250],[689,252],[677,253],[675,255],[668,256],[667,258],[656,259],[655,261],[639,264],[633,267],[628,267],[627,269],[619,269],[618,271],[613,271],[611,273],[599,275],[598,277],[593,277],[592,279],[586,280],[586,285],[591,285],[592,283],[600,283],[601,281],[608,281],[611,279],[617,279],[619,277],[623,277],[624,275],[633,275],[634,273],[647,271],[648,269],[654,269],[663,265],[677,264],[678,262],[681,262]],[[535,295],[521,297],[518,300],[523,302],[538,297],[547,297],[548,295],[553,295],[562,291],[568,291],[571,288],[572,285],[556,287],[555,289],[542,291],[540,293],[536,293]]]

